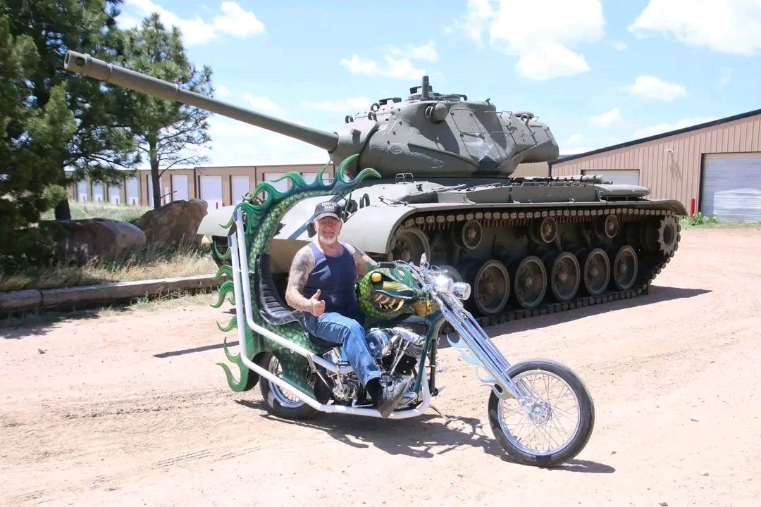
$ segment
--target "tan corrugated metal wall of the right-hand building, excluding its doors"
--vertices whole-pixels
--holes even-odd
[[[761,151],[761,115],[620,147],[552,165],[552,176],[582,170],[638,169],[651,199],[679,199],[689,210],[700,194],[702,154]],[[698,203],[699,205],[699,203]]]

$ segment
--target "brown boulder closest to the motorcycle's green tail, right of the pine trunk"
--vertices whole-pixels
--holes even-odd
[[[194,246],[201,245],[202,234],[197,234],[198,226],[206,216],[208,204],[200,199],[174,201],[161,208],[146,212],[135,225],[145,233],[150,246]]]

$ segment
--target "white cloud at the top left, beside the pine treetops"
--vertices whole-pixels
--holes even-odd
[[[236,2],[221,2],[221,14],[215,16],[211,22],[204,21],[201,17],[181,17],[172,11],[156,5],[151,0],[126,0],[125,5],[135,8],[143,17],[157,12],[161,22],[167,27],[176,26],[183,34],[183,42],[187,46],[204,44],[219,38],[221,33],[228,33],[240,38],[255,36],[264,31],[264,25],[256,18],[256,14],[244,11]],[[116,18],[122,27],[134,27],[142,21],[135,23],[135,17],[120,14]]]

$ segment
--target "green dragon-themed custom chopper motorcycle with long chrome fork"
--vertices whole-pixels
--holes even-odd
[[[372,169],[354,179],[336,168],[330,184],[318,177],[307,183],[287,173],[292,188],[281,192],[262,182],[237,205],[228,229],[230,265],[219,273],[231,277],[220,286],[218,301],[232,296],[235,316],[222,331],[237,328],[239,353],[224,353],[239,375],[220,363],[234,391],[260,385],[268,410],[278,417],[306,419],[319,412],[380,417],[340,347],[311,336],[301,312],[288,309],[272,283],[269,242],[283,214],[296,202],[319,195],[345,195]],[[324,168],[323,168],[324,170]],[[439,341],[446,339],[463,359],[476,366],[489,385],[489,423],[505,451],[522,464],[553,467],[577,455],[594,426],[594,404],[584,382],[568,367],[552,360],[510,363],[495,342],[463,306],[470,284],[455,282],[428,262],[381,261],[361,278],[358,301],[365,313],[366,339],[382,375],[381,382],[413,379],[390,419],[416,417],[438,395],[436,364]],[[232,293],[232,294],[231,294]],[[441,334],[442,325],[454,330]]]

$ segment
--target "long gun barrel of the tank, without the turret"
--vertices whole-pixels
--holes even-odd
[[[200,93],[183,90],[177,84],[163,81],[140,72],[113,65],[103,60],[69,50],[64,57],[63,66],[66,70],[83,76],[95,78],[107,83],[116,84],[130,90],[148,93],[152,97],[166,100],[177,100],[188,106],[196,106],[221,116],[236,119],[256,127],[287,135],[290,138],[323,148],[329,153],[338,146],[339,136],[334,132],[326,132],[317,128],[304,127],[282,119],[267,116],[250,109],[233,106],[221,100],[206,97]]]

